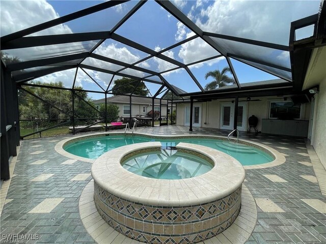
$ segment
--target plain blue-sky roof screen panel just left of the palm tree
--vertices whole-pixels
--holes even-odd
[[[196,85],[195,81],[189,76],[188,72],[180,68],[175,71],[167,72],[162,76],[171,84],[186,93],[200,92],[200,88]]]

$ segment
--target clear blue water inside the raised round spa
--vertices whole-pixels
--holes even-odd
[[[134,174],[155,179],[192,178],[213,168],[212,164],[195,155],[164,149],[133,156],[121,165]]]

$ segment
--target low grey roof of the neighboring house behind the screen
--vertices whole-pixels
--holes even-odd
[[[105,98],[94,100],[95,104],[105,103]],[[128,96],[117,95],[110,98],[107,98],[107,103],[123,103],[129,104],[130,100]],[[144,98],[144,97],[132,97],[132,104],[143,104],[143,105],[151,105],[152,98]],[[154,105],[159,106],[159,99],[154,100]],[[162,100],[162,105],[167,105],[167,100]]]

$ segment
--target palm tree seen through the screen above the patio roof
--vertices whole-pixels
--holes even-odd
[[[205,85],[205,90],[213,90],[228,84],[235,84],[235,80],[232,77],[229,77],[226,74],[227,72],[231,73],[230,67],[225,67],[222,71],[208,71],[205,74],[205,79],[207,80],[208,77],[213,77],[214,80]]]

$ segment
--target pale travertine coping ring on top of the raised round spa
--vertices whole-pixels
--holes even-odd
[[[160,147],[160,142],[144,142],[108,151],[93,163],[93,179],[98,186],[117,197],[160,206],[189,206],[214,201],[233,193],[244,180],[244,169],[236,159],[219,150],[183,142],[177,148],[207,156],[214,167],[200,176],[170,180],[146,178],[121,166],[121,159],[127,154]]]

